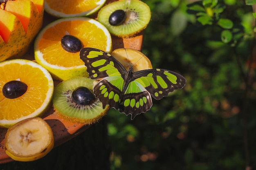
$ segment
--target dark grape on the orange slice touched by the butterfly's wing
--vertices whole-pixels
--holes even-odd
[[[83,43],[73,35],[64,35],[61,38],[61,46],[67,52],[76,53],[83,48]]]

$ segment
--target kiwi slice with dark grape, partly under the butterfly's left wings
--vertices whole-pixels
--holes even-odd
[[[101,119],[109,106],[103,109],[102,103],[93,94],[97,80],[76,77],[65,80],[54,88],[53,105],[56,113],[78,124],[92,124]]]

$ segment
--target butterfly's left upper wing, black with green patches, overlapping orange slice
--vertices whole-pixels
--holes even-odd
[[[87,66],[91,79],[124,75],[127,72],[114,57],[99,49],[83,48],[80,51],[80,58]]]

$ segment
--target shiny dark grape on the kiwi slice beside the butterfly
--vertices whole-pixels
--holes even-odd
[[[86,87],[80,86],[72,92],[72,100],[76,104],[89,105],[94,102],[94,94]]]

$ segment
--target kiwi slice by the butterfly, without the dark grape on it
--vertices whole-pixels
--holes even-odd
[[[94,85],[97,82],[97,80],[86,77],[76,77],[58,84],[54,89],[52,98],[55,113],[74,124],[87,125],[99,121],[106,115],[109,109],[108,105],[103,109],[99,99],[95,99],[90,105],[77,105],[72,102],[71,98],[72,91],[79,86],[84,86],[93,93]]]

